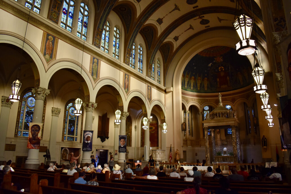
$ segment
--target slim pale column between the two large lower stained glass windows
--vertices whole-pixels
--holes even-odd
[[[51,150],[51,161],[57,161],[56,159],[56,136],[58,129],[58,116],[60,115],[61,108],[52,107],[52,123],[51,123],[51,134],[49,138],[49,149]]]

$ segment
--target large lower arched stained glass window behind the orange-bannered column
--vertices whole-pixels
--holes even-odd
[[[36,102],[35,95],[31,92],[31,90],[26,92],[23,95],[22,101],[19,101],[14,137],[28,137],[29,123],[32,122],[32,119],[33,119],[33,111],[34,111],[35,102]],[[44,122],[44,118],[45,118],[45,106],[46,106],[46,100],[44,102],[42,123]],[[43,127],[42,127],[42,132],[43,132]],[[41,137],[42,137],[42,133],[41,133]]]

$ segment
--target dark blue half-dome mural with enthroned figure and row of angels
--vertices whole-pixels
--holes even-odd
[[[253,83],[252,65],[235,49],[216,46],[196,54],[185,67],[181,85],[189,92],[226,92]]]

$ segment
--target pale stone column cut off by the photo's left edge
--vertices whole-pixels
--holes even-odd
[[[4,161],[4,151],[5,151],[5,142],[6,142],[6,135],[7,135],[7,127],[8,127],[8,119],[11,105],[13,104],[12,101],[8,99],[6,96],[2,96],[1,98],[1,113],[0,113],[0,161]]]

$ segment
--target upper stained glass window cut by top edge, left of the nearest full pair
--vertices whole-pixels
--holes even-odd
[[[63,29],[68,30],[69,32],[72,32],[74,8],[75,8],[74,0],[64,0],[61,27]]]

